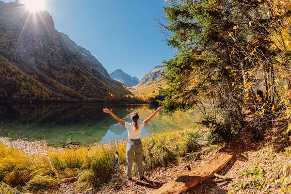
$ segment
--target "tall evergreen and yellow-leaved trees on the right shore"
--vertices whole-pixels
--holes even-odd
[[[200,108],[212,138],[290,123],[291,0],[169,0],[169,110]],[[289,138],[289,130],[284,136]]]

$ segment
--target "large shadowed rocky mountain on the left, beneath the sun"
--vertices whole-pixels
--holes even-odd
[[[15,69],[14,66],[18,67],[17,75],[14,75],[16,78],[27,75],[47,88],[51,95],[46,98],[52,100],[99,100],[110,95],[130,94],[121,83],[109,77],[106,69],[88,50],[56,31],[47,11],[32,13],[18,1],[0,1],[0,56],[6,59],[1,60],[0,68],[10,72],[11,68]],[[3,80],[0,92],[4,91],[0,98],[41,98],[32,97],[29,94],[32,89],[23,92],[21,87],[16,87],[19,91],[5,91],[7,78],[0,76]],[[13,79],[10,77],[8,80]],[[35,91],[38,87],[31,86]]]

